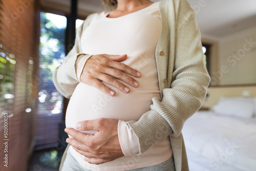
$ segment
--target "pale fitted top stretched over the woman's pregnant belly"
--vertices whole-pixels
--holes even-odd
[[[123,121],[139,120],[150,111],[152,98],[160,98],[156,65],[156,45],[161,32],[159,2],[139,11],[118,17],[106,17],[110,12],[98,13],[81,36],[82,53],[86,54],[127,54],[122,61],[141,72],[137,88],[131,87],[123,93],[106,84],[116,92],[111,97],[87,84],[79,82],[70,98],[66,113],[66,126],[75,129],[82,120],[115,118]],[[78,163],[89,170],[128,170],[160,164],[172,157],[168,137],[152,145],[141,155],[124,156],[111,162],[95,165],[84,161],[84,156],[72,147],[69,152]]]

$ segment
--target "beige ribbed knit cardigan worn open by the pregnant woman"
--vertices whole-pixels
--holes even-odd
[[[127,123],[139,139],[140,153],[169,136],[176,170],[188,170],[181,130],[184,122],[202,106],[210,77],[205,67],[195,11],[186,0],[162,0],[159,9],[161,33],[156,62],[161,99],[153,98],[150,111],[139,121]],[[67,98],[79,82],[75,62],[82,54],[81,33],[94,15],[89,15],[77,29],[73,49],[53,73],[56,89]]]

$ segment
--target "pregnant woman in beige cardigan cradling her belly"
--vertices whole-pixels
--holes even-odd
[[[105,0],[53,74],[70,98],[60,170],[188,170],[181,134],[209,75],[186,0]]]

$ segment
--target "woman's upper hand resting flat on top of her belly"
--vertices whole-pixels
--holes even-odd
[[[104,81],[111,86],[121,90],[124,93],[129,93],[130,88],[126,87],[123,82],[130,84],[133,87],[138,87],[139,83],[133,77],[140,77],[141,73],[137,70],[126,66],[121,61],[125,60],[127,55],[108,55],[99,54],[92,55],[83,67],[80,77],[81,82],[93,86],[103,93],[114,96],[115,91],[105,86],[101,81]],[[129,75],[128,75],[129,74]],[[131,75],[131,76],[130,76]]]

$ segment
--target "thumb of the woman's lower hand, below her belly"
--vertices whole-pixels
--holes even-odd
[[[76,129],[80,131],[89,131],[89,130],[100,131],[101,128],[98,125],[99,125],[99,119],[84,120],[76,123]]]

